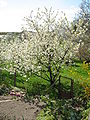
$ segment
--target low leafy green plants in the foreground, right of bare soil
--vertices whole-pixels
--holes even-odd
[[[42,98],[44,102],[47,103],[46,108],[44,108],[37,120],[40,118],[45,119],[47,116],[51,116],[51,120],[80,120],[82,117],[81,111],[83,110],[82,105],[80,105],[79,99],[69,99],[69,100],[52,100],[50,98],[46,99],[45,96]]]

